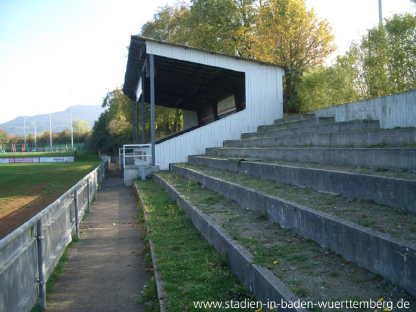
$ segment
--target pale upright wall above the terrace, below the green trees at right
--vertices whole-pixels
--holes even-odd
[[[383,129],[416,126],[416,90],[361,102],[340,104],[311,111],[317,117],[334,117],[337,122],[380,120]]]

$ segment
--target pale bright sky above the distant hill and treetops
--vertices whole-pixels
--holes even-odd
[[[168,0],[0,0],[0,124],[17,116],[102,104],[120,87],[130,36]],[[378,0],[306,0],[327,19],[343,54],[378,23]],[[415,13],[382,0],[383,17]]]

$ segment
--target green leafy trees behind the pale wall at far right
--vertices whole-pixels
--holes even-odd
[[[416,17],[395,15],[353,43],[331,67],[303,75],[300,111],[416,89]]]

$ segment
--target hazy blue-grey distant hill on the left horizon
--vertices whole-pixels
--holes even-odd
[[[84,120],[88,123],[91,129],[94,121],[98,119],[100,113],[104,109],[100,105],[76,105],[72,107],[72,119]],[[36,115],[36,135],[40,135],[43,131],[49,131],[50,114]],[[26,116],[26,135],[34,133],[34,118],[33,116]],[[24,135],[23,129],[23,116],[14,118],[9,122],[0,124],[1,128],[10,135]],[[65,129],[71,129],[71,108],[65,109],[65,111],[58,111],[52,113],[52,131],[61,132]]]

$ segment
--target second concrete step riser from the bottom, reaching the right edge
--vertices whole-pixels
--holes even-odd
[[[171,170],[195,179],[251,210],[265,212],[270,221],[294,229],[301,236],[329,247],[357,265],[388,278],[416,294],[416,246],[235,183],[171,165]]]

